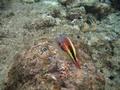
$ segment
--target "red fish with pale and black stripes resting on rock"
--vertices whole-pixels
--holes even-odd
[[[75,47],[70,38],[67,36],[60,36],[57,41],[61,49],[71,57],[75,66],[80,69],[80,60],[77,58]]]

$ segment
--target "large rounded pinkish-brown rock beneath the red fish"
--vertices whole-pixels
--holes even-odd
[[[16,55],[5,90],[104,90],[104,77],[96,72],[89,54],[80,48],[78,53],[81,53],[78,55],[81,69],[75,67],[54,41],[38,40]]]

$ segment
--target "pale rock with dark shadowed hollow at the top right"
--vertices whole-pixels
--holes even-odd
[[[81,16],[80,13],[81,14],[90,13],[93,14],[98,20],[101,20],[109,13],[113,12],[110,3],[101,3],[101,1],[98,0],[73,0],[66,5],[66,8],[67,8],[68,17],[69,18],[75,17],[75,19]]]

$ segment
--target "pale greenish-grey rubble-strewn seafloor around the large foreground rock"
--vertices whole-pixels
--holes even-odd
[[[91,4],[95,0],[90,1]],[[57,0],[13,0],[3,1],[3,3],[4,6],[0,9],[0,90],[4,90],[4,87],[6,87],[7,79],[9,78],[8,72],[10,72],[9,70],[17,54],[25,51],[31,47],[35,41],[39,41],[41,38],[47,38],[57,43],[55,38],[61,34],[70,37],[74,44],[76,44],[75,42],[77,41],[87,47],[97,72],[100,72],[104,77],[104,88],[100,90],[120,90],[119,10],[104,11],[107,15],[105,14],[105,17],[101,17],[101,20],[97,19],[95,26],[94,24],[93,26],[90,24],[90,26],[89,24],[80,22],[79,18],[76,18],[79,17],[77,16],[79,15],[79,11],[76,12],[74,9],[79,8],[79,6],[71,7],[73,11],[70,11],[69,8],[67,10],[66,6],[61,5]],[[68,11],[70,13],[77,13],[76,17],[75,15],[70,16],[70,14],[67,13]],[[84,10],[82,13],[83,17],[88,14],[87,12],[85,13]],[[96,13],[98,13],[96,15],[104,16],[103,13],[99,14],[99,11]],[[93,13],[90,12],[90,14]],[[7,90],[12,89],[7,88]],[[17,88],[16,90],[22,89]]]

